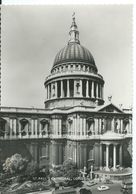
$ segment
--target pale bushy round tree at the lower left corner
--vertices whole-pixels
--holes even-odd
[[[3,170],[11,174],[19,174],[26,170],[28,160],[23,158],[20,154],[14,154],[7,158],[3,164]]]

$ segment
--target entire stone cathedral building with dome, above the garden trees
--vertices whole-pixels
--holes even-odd
[[[32,162],[82,169],[131,167],[132,112],[104,104],[104,80],[90,51],[80,45],[73,17],[68,45],[45,80],[44,109],[1,107],[0,159],[21,153]]]

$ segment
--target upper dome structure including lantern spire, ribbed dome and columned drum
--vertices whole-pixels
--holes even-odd
[[[68,45],[56,55],[51,75],[44,83],[45,107],[50,106],[50,100],[60,98],[84,98],[84,100],[89,98],[93,102],[97,100],[98,105],[102,105],[104,80],[97,73],[90,51],[80,45],[75,18],[69,34]],[[67,103],[65,105],[67,106]]]

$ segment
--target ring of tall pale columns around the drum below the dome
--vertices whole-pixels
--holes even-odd
[[[54,98],[87,97],[103,99],[103,85],[89,79],[61,79],[46,86],[47,100]]]

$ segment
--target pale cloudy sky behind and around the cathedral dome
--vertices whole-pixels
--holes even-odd
[[[131,5],[10,5],[2,7],[2,106],[44,108],[44,80],[69,40],[73,12],[105,80],[105,101],[132,105]]]

